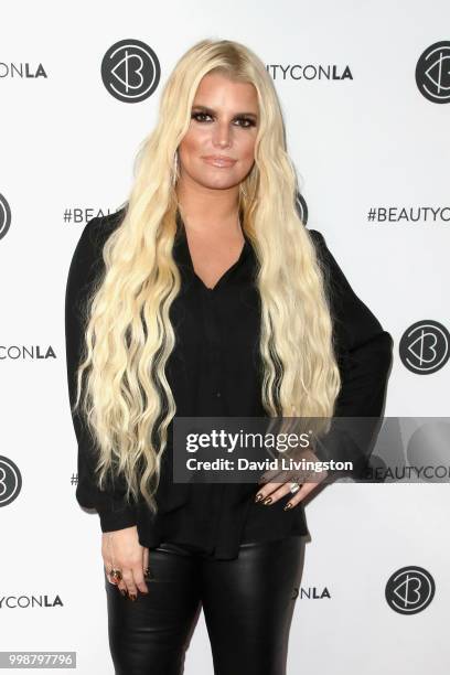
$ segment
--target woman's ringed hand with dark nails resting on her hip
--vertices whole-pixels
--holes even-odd
[[[318,457],[312,452],[312,450],[303,450],[301,452],[301,458],[309,462],[319,462]],[[298,461],[298,459],[296,460]],[[279,479],[277,482],[271,481],[271,479]],[[264,488],[258,490],[256,494],[255,501],[260,502],[261,504],[275,504],[286,494],[291,493],[291,483],[296,482],[300,485],[300,490],[292,494],[292,497],[285,505],[285,511],[293,508],[303,500],[306,496],[310,494],[320,483],[322,483],[328,478],[328,471],[313,471],[313,470],[272,470],[266,471],[259,483],[264,483]],[[271,482],[268,482],[271,481]],[[307,482],[308,481],[308,482]],[[261,495],[258,499],[258,495]]]

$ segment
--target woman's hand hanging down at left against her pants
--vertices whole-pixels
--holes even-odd
[[[149,566],[149,549],[139,544],[136,525],[103,533],[101,556],[108,580],[117,586],[122,594],[128,592],[131,600],[136,600],[138,589],[142,593],[149,592],[143,576],[143,570]],[[121,571],[120,581],[113,581],[109,576],[111,569]]]

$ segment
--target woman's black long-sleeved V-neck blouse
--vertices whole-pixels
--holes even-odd
[[[65,303],[71,406],[75,401],[76,367],[84,341],[81,309],[90,285],[103,271],[103,246],[124,215],[125,210],[121,210],[90,219],[71,262]],[[343,379],[336,416],[378,418],[392,362],[392,336],[355,296],[323,236],[317,231],[309,231],[309,234],[328,271],[338,363]],[[210,289],[194,271],[184,225],[178,215],[173,256],[182,288],[171,307],[176,344],[165,368],[178,416],[267,415],[260,394],[260,307],[254,283],[256,257],[245,234],[244,238],[238,260]],[[82,506],[98,512],[103,532],[137,525],[142,546],[153,548],[163,540],[190,544],[223,559],[236,557],[240,543],[308,534],[302,502],[283,511],[291,495],[266,506],[255,503],[256,484],[174,483],[173,422],[169,426],[157,492],[157,516],[151,514],[143,499],[127,505],[121,480],[107,492],[100,492],[95,485],[92,438],[79,414],[73,414],[73,422],[78,441],[76,499]]]

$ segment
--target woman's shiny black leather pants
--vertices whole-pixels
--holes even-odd
[[[233,560],[188,546],[150,549],[149,593],[132,602],[105,574],[116,675],[181,675],[203,606],[215,675],[286,675],[301,536],[243,544]]]

